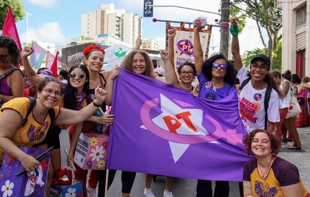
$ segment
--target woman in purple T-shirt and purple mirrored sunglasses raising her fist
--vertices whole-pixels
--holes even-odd
[[[199,81],[199,97],[220,100],[231,94],[238,94],[234,87],[236,75],[234,66],[222,54],[214,54],[208,60],[203,60],[203,50],[200,44],[199,32],[204,29],[201,23],[194,29],[194,57],[196,75]],[[213,197],[211,180],[197,181],[196,197]],[[228,197],[229,182],[216,181],[214,197]]]

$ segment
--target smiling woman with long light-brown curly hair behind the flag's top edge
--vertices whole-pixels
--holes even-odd
[[[160,50],[159,51],[161,59],[164,62],[166,71],[171,69],[173,70],[173,66],[171,66],[171,62],[169,60],[168,52],[166,50]],[[160,81],[165,82],[164,77],[155,77],[153,74],[154,66],[153,62],[150,58],[150,56],[142,50],[132,50],[123,60],[122,64],[120,67],[129,70],[131,72],[134,72],[136,74],[148,76],[155,78]],[[174,72],[174,71],[173,71]],[[168,73],[173,73],[172,71],[168,71]],[[119,76],[120,74],[120,69],[119,67],[115,67],[112,69],[109,79],[106,84],[106,89],[107,92],[109,92],[109,98],[106,101],[107,105],[112,105],[112,94],[113,94],[113,81],[114,79]],[[169,74],[168,74],[169,75]],[[166,77],[167,83],[170,85],[175,84],[175,79],[174,77]],[[129,197],[134,179],[136,176],[136,172],[128,172],[128,171],[122,171],[122,197]]]

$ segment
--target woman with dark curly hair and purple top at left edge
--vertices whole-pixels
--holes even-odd
[[[0,35],[0,107],[3,103],[24,96],[24,76],[12,64],[20,62],[21,55],[16,42]]]

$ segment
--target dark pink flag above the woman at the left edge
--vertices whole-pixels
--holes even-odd
[[[22,51],[21,41],[19,40],[18,32],[15,25],[14,16],[12,13],[11,6],[9,6],[9,11],[7,12],[3,28],[2,28],[2,35],[10,36],[13,40],[15,40],[18,48]],[[23,63],[20,63],[20,66],[23,66]]]

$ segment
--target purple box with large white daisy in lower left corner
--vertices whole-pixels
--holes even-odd
[[[36,158],[41,153],[44,153],[44,150],[39,150],[36,148],[27,148],[20,147],[22,151],[26,154],[33,156]],[[42,181],[45,183],[42,187],[39,185],[35,185],[33,193],[30,197],[44,197],[45,188],[46,188],[46,180],[48,167],[50,162],[50,156],[44,158],[40,164],[42,166]],[[23,165],[15,158],[12,158],[6,154],[4,154],[2,167],[0,171],[0,197],[9,196],[9,197],[24,197],[25,189],[28,182],[27,172],[21,174],[20,176],[15,176],[18,172],[24,169]],[[36,172],[36,176],[38,176]],[[5,189],[3,190],[2,189]],[[4,194],[5,193],[5,194]],[[11,194],[11,195],[10,195]]]

